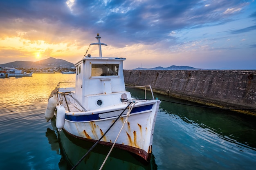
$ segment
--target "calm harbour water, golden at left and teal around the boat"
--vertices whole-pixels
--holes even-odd
[[[58,133],[44,118],[47,99],[58,82],[75,75],[33,74],[0,79],[0,169],[69,170],[93,145]],[[134,97],[143,91],[132,89]],[[155,94],[159,99],[182,102]],[[110,148],[97,146],[76,169],[100,168]],[[113,150],[105,170],[254,170],[256,118],[237,113],[160,104],[149,164]]]

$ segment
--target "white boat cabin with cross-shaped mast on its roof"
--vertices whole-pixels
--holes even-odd
[[[99,57],[90,54],[75,64],[76,85],[75,98],[86,110],[121,104],[121,95],[126,93],[123,74],[123,61],[125,58],[102,57],[99,34],[96,37],[99,45]]]

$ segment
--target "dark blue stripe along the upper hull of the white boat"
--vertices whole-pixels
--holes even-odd
[[[145,111],[145,110],[150,110],[150,109],[152,109],[152,107],[153,107],[153,104],[146,105],[146,106],[135,107],[135,108],[132,108],[132,111],[131,111],[130,114]],[[115,110],[115,111],[118,111],[118,110]],[[105,113],[110,113],[110,112],[105,112]],[[102,119],[102,118],[99,117],[100,114],[102,114],[102,113],[93,114],[93,115],[79,115],[79,116],[77,116],[77,115],[66,115],[65,119],[70,120],[70,121],[92,121],[92,120]],[[104,119],[106,119],[106,118],[104,118]]]

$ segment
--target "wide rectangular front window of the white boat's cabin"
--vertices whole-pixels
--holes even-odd
[[[92,76],[118,75],[119,64],[92,64]]]

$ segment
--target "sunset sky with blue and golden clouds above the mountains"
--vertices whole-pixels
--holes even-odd
[[[255,0],[0,0],[0,64],[76,63],[97,33],[124,69],[256,69]]]

